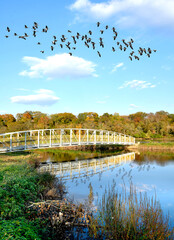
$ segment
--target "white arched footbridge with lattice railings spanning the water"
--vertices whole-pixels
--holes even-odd
[[[135,138],[106,130],[58,128],[0,134],[0,152],[71,145],[133,145]]]

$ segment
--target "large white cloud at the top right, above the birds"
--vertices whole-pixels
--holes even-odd
[[[117,23],[130,26],[173,26],[173,0],[107,0],[93,3],[90,0],[76,0],[71,10],[95,19],[115,17]]]

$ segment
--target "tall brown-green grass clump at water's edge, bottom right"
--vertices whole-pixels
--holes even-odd
[[[128,194],[125,187],[119,193],[115,185],[105,191],[89,229],[97,239],[174,239],[169,216],[163,214],[156,197],[137,193],[133,186]]]

